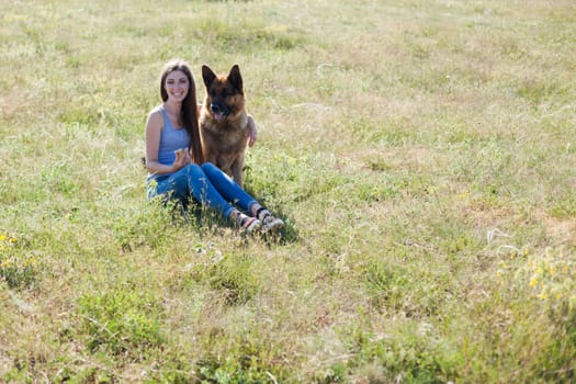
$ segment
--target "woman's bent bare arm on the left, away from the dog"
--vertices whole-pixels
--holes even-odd
[[[173,173],[190,162],[190,154],[188,150],[179,150],[171,166],[158,162],[162,126],[163,118],[160,111],[150,112],[146,121],[146,169],[150,173]]]

